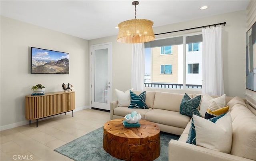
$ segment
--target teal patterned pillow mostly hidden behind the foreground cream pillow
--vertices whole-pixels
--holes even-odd
[[[210,118],[208,120],[215,123],[219,118],[223,117],[224,115],[226,115],[226,113],[222,113],[221,115]],[[196,128],[195,128],[195,125],[194,125],[193,118],[192,118],[191,126],[190,126],[190,129],[189,129],[189,132],[188,132],[188,139],[187,139],[186,143],[196,145]]]

